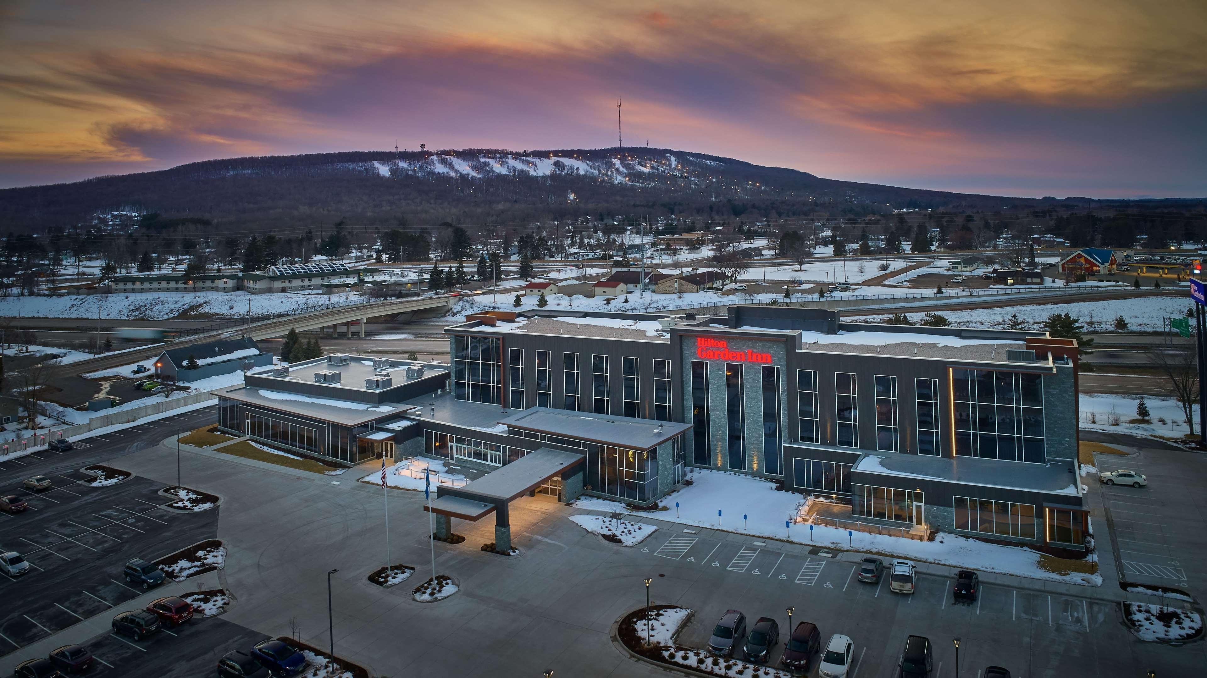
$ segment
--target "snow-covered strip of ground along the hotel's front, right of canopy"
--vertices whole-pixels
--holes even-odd
[[[693,480],[689,487],[671,492],[660,499],[659,503],[671,507],[671,510],[661,512],[654,518],[700,527],[719,526],[729,532],[787,539],[801,544],[891,554],[951,567],[968,567],[1068,584],[1102,585],[1102,577],[1098,574],[1057,574],[1042,569],[1040,554],[1037,551],[990,544],[958,534],[940,532],[934,542],[917,542],[867,532],[855,532],[849,537],[846,530],[826,525],[814,525],[814,528],[809,530],[809,526],[797,522],[803,520],[805,499],[795,492],[777,491],[768,480],[709,469],[696,469],[689,478]],[[626,512],[624,504],[619,502],[601,499],[576,502],[575,505],[595,510]],[[719,519],[718,510],[722,514]],[[785,525],[786,522],[791,524],[791,528]]]

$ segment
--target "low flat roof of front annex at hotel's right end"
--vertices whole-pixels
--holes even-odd
[[[851,470],[876,473],[897,478],[941,480],[962,485],[1034,490],[1051,495],[1080,497],[1080,479],[1068,460],[1048,463],[1009,462],[978,457],[955,458],[928,455],[864,454]]]

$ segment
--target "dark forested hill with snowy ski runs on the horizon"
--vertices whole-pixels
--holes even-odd
[[[76,183],[0,191],[0,226],[43,233],[112,211],[225,232],[514,224],[599,215],[747,223],[892,208],[996,211],[1038,204],[821,179],[669,148],[344,152],[229,158]]]

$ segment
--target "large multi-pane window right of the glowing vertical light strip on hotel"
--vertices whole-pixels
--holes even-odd
[[[956,454],[1044,463],[1043,376],[952,369]]]

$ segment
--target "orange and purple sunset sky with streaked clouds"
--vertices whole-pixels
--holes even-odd
[[[0,187],[616,145],[1008,195],[1207,195],[1207,2],[0,0]]]

